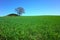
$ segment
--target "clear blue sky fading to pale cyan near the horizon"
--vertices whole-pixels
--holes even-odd
[[[23,15],[60,15],[60,0],[0,0],[0,16],[16,13],[15,8],[23,7]]]

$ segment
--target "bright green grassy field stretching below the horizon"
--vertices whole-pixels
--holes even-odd
[[[0,17],[0,40],[60,40],[60,16]]]

